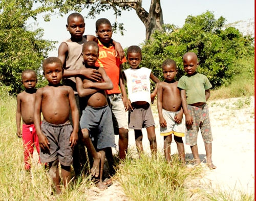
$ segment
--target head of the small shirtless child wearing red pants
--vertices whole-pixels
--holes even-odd
[[[37,76],[35,71],[27,69],[22,72],[22,83],[26,90],[34,88],[37,82]]]

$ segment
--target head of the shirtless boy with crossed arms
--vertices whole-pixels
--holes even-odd
[[[82,56],[86,66],[95,66],[99,56],[98,44],[93,40],[85,42],[82,46]]]

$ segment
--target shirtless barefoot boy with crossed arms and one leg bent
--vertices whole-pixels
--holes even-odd
[[[100,189],[105,189],[106,186],[102,182],[105,149],[115,147],[111,109],[106,100],[105,90],[111,90],[113,84],[105,70],[95,66],[99,55],[99,47],[96,42],[88,41],[84,43],[82,55],[85,67],[99,70],[102,76],[102,80],[98,82],[76,77],[76,87],[80,97],[88,97],[87,107],[83,110],[80,119],[80,127],[84,144],[86,144],[87,150],[94,159],[91,172],[93,176],[99,177],[97,186]],[[98,152],[92,143],[92,139]]]

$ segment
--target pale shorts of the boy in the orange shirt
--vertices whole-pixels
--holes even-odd
[[[128,129],[128,121],[125,115],[125,109],[121,94],[107,95],[108,103],[112,111],[112,119],[115,135],[118,135],[119,128]]]

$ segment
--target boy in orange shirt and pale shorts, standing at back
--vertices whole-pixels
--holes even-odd
[[[104,68],[114,86],[112,90],[106,90],[106,95],[112,110],[115,135],[119,135],[119,158],[125,159],[128,147],[128,124],[125,109],[129,109],[129,104],[123,84],[121,64],[126,59],[115,57],[115,47],[111,43],[112,33],[111,23],[108,19],[100,18],[96,21],[96,35],[98,36],[99,46],[99,58],[96,65]],[[121,91],[119,90],[119,86]],[[111,152],[111,149],[109,151]],[[112,160],[109,158],[111,155],[112,152],[107,153],[109,162]]]

